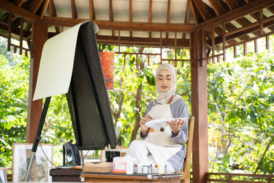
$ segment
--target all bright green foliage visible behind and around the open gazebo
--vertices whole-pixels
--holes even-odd
[[[3,49],[6,50],[1,40],[0,167],[11,167],[12,143],[25,142],[29,58],[18,57]],[[109,45],[101,45],[101,49],[118,51],[117,47]],[[139,48],[121,47],[121,51],[138,53]],[[144,48],[142,51],[155,53],[158,49]],[[242,169],[247,173],[273,174],[273,51],[248,53],[236,60],[208,65],[210,171]],[[174,59],[175,51],[163,49],[163,55]],[[178,59],[188,59],[188,56],[188,50],[177,49]],[[140,69],[138,66],[142,62],[145,64]],[[114,119],[119,114],[119,104],[123,102],[121,114],[114,123],[123,123],[119,137],[125,147],[129,146],[136,115],[143,117],[149,101],[157,97],[154,71],[159,57],[151,56],[149,62],[148,65],[145,55],[138,55],[137,59],[132,54],[125,60],[123,55],[116,55],[114,60],[114,89],[108,92]],[[178,62],[176,71],[177,94],[186,100],[191,115],[190,63],[184,62],[182,66]],[[140,108],[136,108],[138,86],[142,86]],[[54,145],[55,164],[61,164],[62,145],[71,139],[75,141],[65,95],[51,98],[47,114],[42,143]]]

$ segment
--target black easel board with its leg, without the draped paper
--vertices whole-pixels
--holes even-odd
[[[82,150],[104,149],[107,144],[112,148],[117,145],[110,99],[97,45],[94,23],[89,21],[82,24],[77,36],[71,84],[66,93],[76,145],[81,150],[80,153]],[[40,135],[50,99],[51,97],[46,98],[42,110],[25,182],[29,177],[34,155],[41,140]],[[84,166],[83,154],[81,157]]]

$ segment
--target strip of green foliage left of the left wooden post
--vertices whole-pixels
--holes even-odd
[[[25,142],[29,58],[13,58],[0,55],[0,167],[10,167],[12,143]]]

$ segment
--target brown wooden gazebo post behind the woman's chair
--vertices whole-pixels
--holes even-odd
[[[192,66],[191,96],[192,116],[195,117],[195,129],[192,146],[193,182],[204,182],[208,172],[208,86],[207,66],[201,64],[206,57],[206,44],[202,44],[202,31],[191,33]]]

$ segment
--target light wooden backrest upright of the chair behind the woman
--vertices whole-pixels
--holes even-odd
[[[194,132],[195,117],[190,117],[188,121],[188,143],[186,144],[186,158],[184,159],[184,169],[186,173],[190,173],[190,161],[192,152],[193,132]]]

